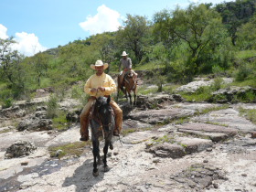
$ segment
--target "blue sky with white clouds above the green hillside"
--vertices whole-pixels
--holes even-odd
[[[229,1],[229,0],[228,0]],[[0,38],[14,37],[16,48],[32,56],[77,39],[116,31],[127,14],[146,16],[223,0],[0,0]],[[226,0],[227,2],[227,0]]]

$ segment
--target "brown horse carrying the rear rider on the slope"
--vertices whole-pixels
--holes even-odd
[[[126,99],[128,100],[127,97],[127,93],[129,95],[130,98],[130,104],[135,105],[136,104],[136,92],[137,92],[137,78],[135,76],[135,74],[133,73],[133,71],[128,70],[127,72],[125,72],[124,77],[123,77],[123,83],[121,84],[121,77],[118,76],[117,78],[117,101],[118,101],[118,97],[119,97],[119,91],[123,91]],[[123,89],[124,87],[124,89]],[[131,92],[133,91],[133,96],[134,96],[134,101],[132,102],[132,95]]]

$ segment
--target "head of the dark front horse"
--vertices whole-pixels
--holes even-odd
[[[110,105],[111,97],[99,97],[95,103],[95,109],[98,113],[99,120],[105,131],[109,131],[112,123],[112,107]]]

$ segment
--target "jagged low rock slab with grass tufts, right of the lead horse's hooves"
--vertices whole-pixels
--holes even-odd
[[[212,145],[212,141],[208,139],[177,137],[173,143],[148,143],[145,151],[159,157],[180,158],[184,155],[204,151]]]

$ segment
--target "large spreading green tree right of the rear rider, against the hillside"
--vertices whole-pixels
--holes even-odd
[[[173,12],[164,10],[155,14],[154,21],[155,36],[172,46],[179,57],[187,56],[187,75],[197,74],[208,61],[203,56],[212,54],[222,43],[219,39],[227,37],[219,13],[203,4],[189,5],[185,10],[177,7]]]

